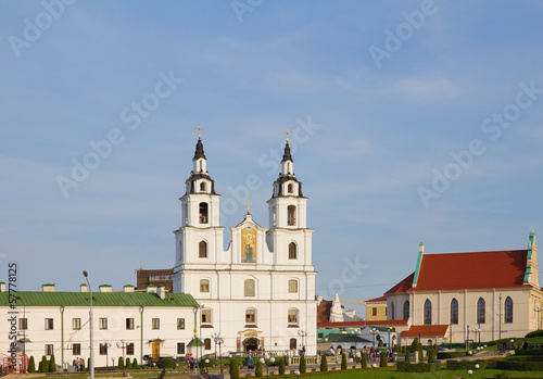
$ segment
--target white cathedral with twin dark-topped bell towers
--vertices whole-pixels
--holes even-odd
[[[181,227],[175,231],[174,292],[200,304],[199,337],[211,349],[212,334],[224,338],[223,352],[299,351],[316,354],[315,276],[307,198],[293,172],[289,140],[282,173],[268,200],[269,229],[249,210],[230,228],[224,250],[219,199],[207,173],[201,137],[181,201]]]

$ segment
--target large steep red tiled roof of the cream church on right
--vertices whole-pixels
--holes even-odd
[[[413,288],[414,273],[386,294],[522,287],[527,254],[527,250],[425,254],[417,287]]]

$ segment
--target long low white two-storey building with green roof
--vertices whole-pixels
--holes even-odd
[[[14,321],[18,359],[25,352],[28,358],[34,356],[37,368],[43,355],[54,354],[58,366],[72,365],[79,357],[87,365],[90,292],[86,285],[79,292],[56,292],[54,285],[43,285],[41,292],[18,291],[15,299],[15,307],[10,307],[9,292],[0,283],[0,318]],[[125,358],[137,358],[140,365],[146,356],[184,355],[194,336],[195,309],[198,303],[190,294],[152,287],[134,292],[134,286],[112,292],[111,286],[100,286],[99,292],[92,292],[94,366],[116,365],[123,356],[123,344],[117,346],[122,341]],[[0,337],[2,346],[14,341],[9,332]]]

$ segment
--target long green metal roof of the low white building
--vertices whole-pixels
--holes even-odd
[[[17,306],[89,306],[90,292],[17,291]],[[0,306],[9,306],[9,292],[0,292]],[[190,306],[198,303],[188,293],[166,293],[162,300],[147,292],[92,292],[93,306]]]

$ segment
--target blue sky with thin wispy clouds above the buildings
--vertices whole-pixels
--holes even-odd
[[[295,131],[325,298],[381,295],[420,241],[525,249],[543,231],[542,14],[539,1],[3,1],[0,277],[17,262],[21,289],[77,290],[84,269],[121,289],[140,266],[172,267],[199,124],[233,204],[225,245],[247,197],[268,227],[274,156]]]

